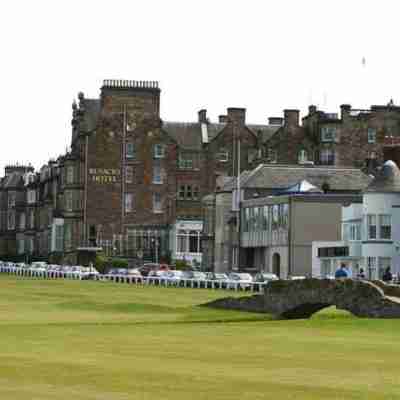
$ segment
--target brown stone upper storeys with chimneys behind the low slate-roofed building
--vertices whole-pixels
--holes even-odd
[[[298,110],[284,111],[284,125],[263,143],[263,160],[277,163],[355,166],[374,172],[383,161],[400,161],[400,107],[353,109],[341,114],[310,106],[299,121]],[[259,161],[257,161],[259,162]]]

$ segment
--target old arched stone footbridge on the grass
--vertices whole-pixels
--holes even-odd
[[[400,318],[400,286],[353,279],[280,280],[269,283],[264,294],[227,297],[205,306],[267,313],[282,319],[309,318],[330,306],[357,317]]]

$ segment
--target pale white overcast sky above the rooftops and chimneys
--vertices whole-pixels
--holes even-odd
[[[158,80],[161,117],[245,107],[265,123],[400,103],[398,1],[12,0],[0,5],[1,175],[69,145],[71,104],[103,79]],[[365,58],[365,65],[363,65]]]

